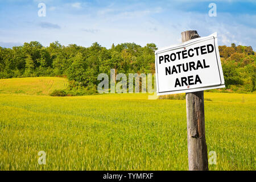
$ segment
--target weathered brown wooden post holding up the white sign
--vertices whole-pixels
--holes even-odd
[[[199,38],[197,31],[181,32],[182,42]],[[204,126],[204,91],[186,93],[188,169],[208,171],[207,144]]]

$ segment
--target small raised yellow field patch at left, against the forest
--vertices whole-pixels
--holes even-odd
[[[0,94],[49,95],[55,89],[65,89],[67,78],[60,77],[29,77],[0,79]]]

